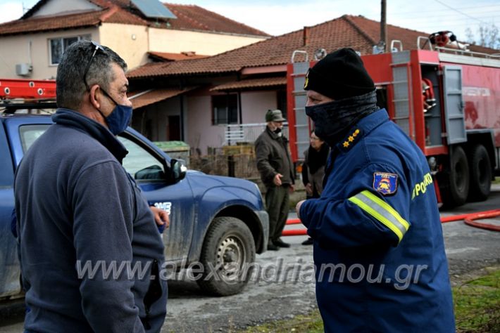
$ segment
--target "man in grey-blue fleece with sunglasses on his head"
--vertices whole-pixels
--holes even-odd
[[[26,332],[159,332],[163,325],[163,242],[115,138],[132,114],[125,70],[109,48],[68,47],[57,71],[55,124],[16,172]]]

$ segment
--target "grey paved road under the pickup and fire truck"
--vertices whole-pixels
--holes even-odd
[[[500,208],[500,185],[494,186],[487,202],[465,204],[443,216]],[[294,214],[290,214],[293,218]],[[500,225],[500,221],[494,221]],[[300,228],[290,226],[289,228]],[[451,278],[458,282],[488,266],[500,266],[500,233],[466,226],[462,221],[443,225],[446,254]],[[287,237],[289,249],[265,252],[257,257],[261,274],[254,275],[244,292],[229,297],[202,294],[194,282],[170,282],[168,315],[162,332],[226,332],[231,328],[290,318],[315,308],[312,280],[312,247],[301,245],[306,236]],[[293,273],[293,265],[302,269]],[[273,266],[281,267],[281,273]],[[285,274],[287,272],[287,274]],[[12,310],[13,308],[13,310]],[[1,313],[0,309],[0,313]],[[0,314],[0,332],[21,332],[23,315],[20,306]]]

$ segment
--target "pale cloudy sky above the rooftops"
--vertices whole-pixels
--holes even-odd
[[[172,0],[194,4],[272,35],[333,20],[344,14],[380,22],[380,0]],[[0,22],[16,20],[37,0],[0,0]],[[466,41],[480,25],[500,29],[500,0],[387,0],[387,23],[426,33],[449,30]]]

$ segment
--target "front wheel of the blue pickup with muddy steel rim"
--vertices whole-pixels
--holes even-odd
[[[222,216],[213,220],[201,249],[198,285],[214,296],[238,294],[251,276],[255,261],[254,236],[238,218]]]

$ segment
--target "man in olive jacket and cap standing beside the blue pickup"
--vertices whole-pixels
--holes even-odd
[[[283,136],[285,118],[280,110],[268,110],[265,131],[255,141],[257,169],[265,185],[265,207],[269,214],[269,250],[289,247],[280,239],[289,211],[289,192],[294,190],[288,139]]]

